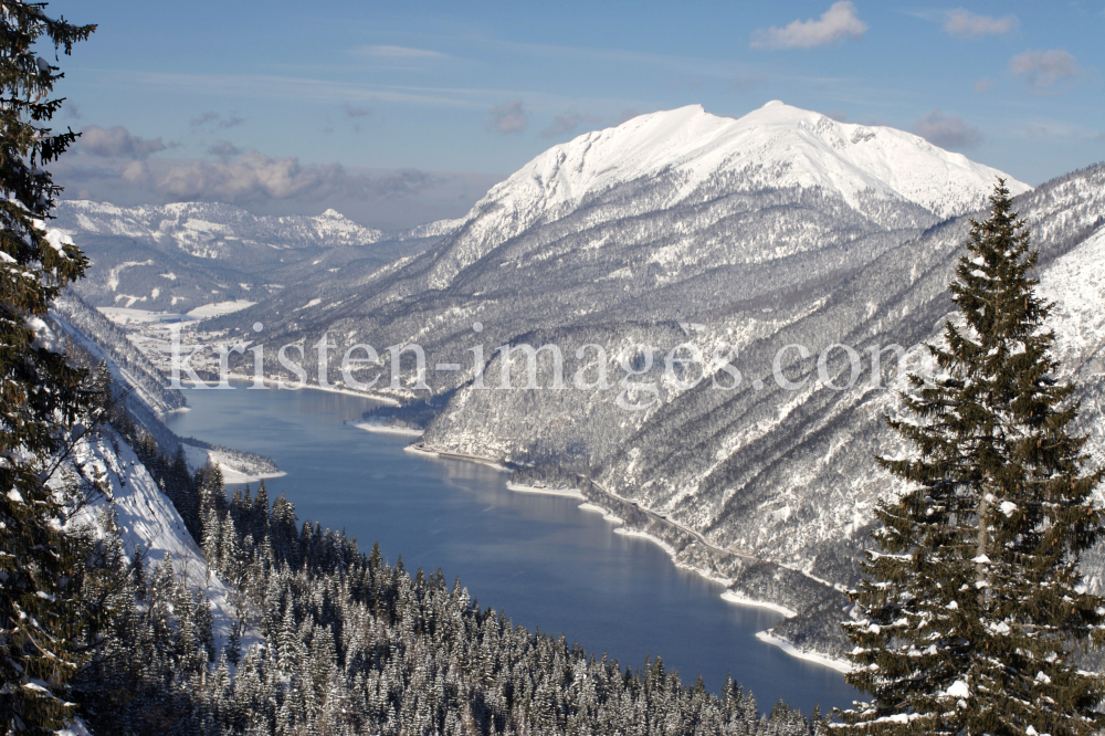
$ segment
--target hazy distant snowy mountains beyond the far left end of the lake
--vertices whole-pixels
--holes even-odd
[[[217,202],[116,207],[65,200],[52,225],[78,240],[92,260],[90,277],[76,286],[87,302],[181,313],[256,302],[290,283],[325,281],[349,266],[372,271],[417,252],[428,238],[387,234],[335,210],[257,215]]]

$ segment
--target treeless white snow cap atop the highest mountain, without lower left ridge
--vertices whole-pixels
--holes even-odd
[[[912,133],[839,123],[771,101],[737,119],[688,105],[585,134],[545,151],[487,198],[529,194],[555,209],[667,169],[685,176],[676,197],[719,174],[748,171],[756,172],[748,186],[823,187],[853,206],[864,191],[896,196],[941,218],[985,203],[994,177],[1008,179],[1014,194],[1030,189]]]

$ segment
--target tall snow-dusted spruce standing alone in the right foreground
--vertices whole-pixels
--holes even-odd
[[[1004,182],[972,222],[950,285],[962,325],[930,347],[940,378],[912,377],[916,418],[891,424],[917,459],[880,463],[908,482],[876,511],[882,547],[865,564],[848,680],[873,702],[850,733],[1087,734],[1105,725],[1098,674],[1073,650],[1099,643],[1103,600],[1078,571],[1102,532],[1083,474],[1078,406],[1055,379],[1050,304]]]

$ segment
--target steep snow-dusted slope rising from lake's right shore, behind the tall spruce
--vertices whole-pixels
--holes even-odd
[[[1105,287],[1095,267],[1105,242],[1103,191],[1105,166],[1096,166],[1017,201],[1041,251],[1041,288],[1056,303],[1056,354],[1065,376],[1080,387],[1080,429],[1091,437],[1087,450],[1098,463],[1105,462]],[[833,602],[785,570],[836,586],[854,581],[874,503],[897,488],[873,456],[905,451],[882,421],[898,411],[895,390],[905,388],[903,371],[893,353],[883,353],[876,381],[869,350],[939,339],[944,320],[954,317],[947,283],[968,227],[967,217],[943,223],[772,307],[729,305],[688,318],[698,325],[585,323],[525,334],[519,339],[560,346],[566,376],[582,362],[571,359],[575,350],[588,343],[606,345],[610,356],[631,344],[656,346],[655,367],[634,380],[655,386],[659,401],[644,411],[617,408],[614,397],[623,388],[617,378],[624,372],[613,360],[609,391],[464,387],[430,422],[424,446],[513,463],[532,483],[581,484],[592,502],[625,514],[630,526],[665,538],[681,565],[730,578],[741,596],[799,611],[778,634],[839,654],[844,642],[832,637],[842,599]],[[691,376],[665,372],[662,357],[681,343],[705,356],[718,344],[737,346],[739,387],[715,388],[715,376],[722,386],[732,379],[707,367],[701,383],[681,390],[674,379],[693,382],[699,375],[697,368]],[[819,377],[819,355],[834,344],[860,354],[846,390],[829,388]],[[780,354],[788,345],[804,346],[809,357],[793,348]],[[851,368],[843,349],[825,355],[825,378],[848,386]],[[906,367],[922,368],[920,355],[912,354]],[[779,385],[776,359],[783,378],[800,386]],[[543,368],[538,382],[547,389],[550,365]],[[497,378],[497,357],[485,374]],[[719,559],[708,546],[729,550],[735,559]],[[741,555],[785,567],[765,574]],[[1092,559],[1086,568],[1095,585],[1099,567]]]

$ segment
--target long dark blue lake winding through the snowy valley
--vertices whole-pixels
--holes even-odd
[[[648,539],[613,534],[579,501],[508,491],[505,473],[414,455],[409,438],[347,424],[373,406],[366,399],[244,386],[187,396],[191,411],[169,428],[271,456],[287,475],[266,481],[269,497],[283,492],[301,522],[344,528],[365,553],[378,540],[412,574],[440,567],[515,623],[564,632],[623,667],[659,655],[714,692],[732,672],[761,709],[782,698],[809,714],[856,695],[839,672],[755,639],[778,613],[723,601],[720,585],[677,569]]]

